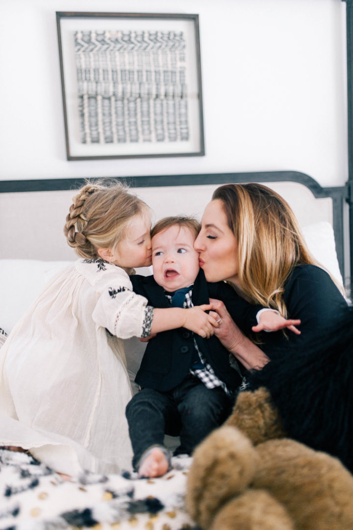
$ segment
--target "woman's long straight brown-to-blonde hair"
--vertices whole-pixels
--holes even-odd
[[[222,185],[212,199],[222,201],[238,242],[240,288],[253,303],[287,316],[283,293],[291,271],[301,264],[320,267],[290,206],[278,193],[256,183]]]

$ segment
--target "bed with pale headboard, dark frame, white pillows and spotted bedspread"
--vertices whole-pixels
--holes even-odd
[[[139,176],[124,179],[153,209],[155,219],[188,214],[201,217],[212,191],[226,182],[263,182],[289,202],[309,249],[326,269],[349,285],[346,188],[322,188],[298,172]],[[62,235],[75,189],[84,179],[0,182],[0,345],[45,282],[76,259]],[[150,273],[141,269],[139,272]],[[126,341],[133,381],[144,347]],[[175,440],[169,439],[173,447]],[[195,529],[184,508],[190,457],[173,459],[159,479],[138,479],[131,471],[116,475],[83,473],[62,478],[27,453],[0,449],[2,502],[0,530],[14,528]]]

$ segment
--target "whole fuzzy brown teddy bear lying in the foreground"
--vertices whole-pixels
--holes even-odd
[[[338,458],[284,438],[266,388],[195,449],[186,506],[205,530],[353,530],[353,475]]]

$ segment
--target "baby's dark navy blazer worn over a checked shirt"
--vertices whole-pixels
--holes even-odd
[[[153,276],[135,275],[130,279],[135,293],[146,297],[149,305],[170,307],[164,289],[156,283]],[[212,284],[206,282],[204,272],[200,269],[193,286],[192,302],[194,305],[208,304],[210,297],[221,299],[225,303],[231,317],[245,333],[251,331],[251,326],[256,324],[256,313],[261,306],[249,304],[223,281]],[[235,390],[242,383],[242,376],[230,366],[228,350],[214,335],[203,339],[185,328],[162,331],[148,342],[136,374],[136,383],[160,392],[166,392],[181,383],[192,364],[194,337],[217,377],[230,390]]]

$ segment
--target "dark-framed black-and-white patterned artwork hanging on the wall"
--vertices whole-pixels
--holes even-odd
[[[204,155],[198,15],[56,21],[67,160]]]

